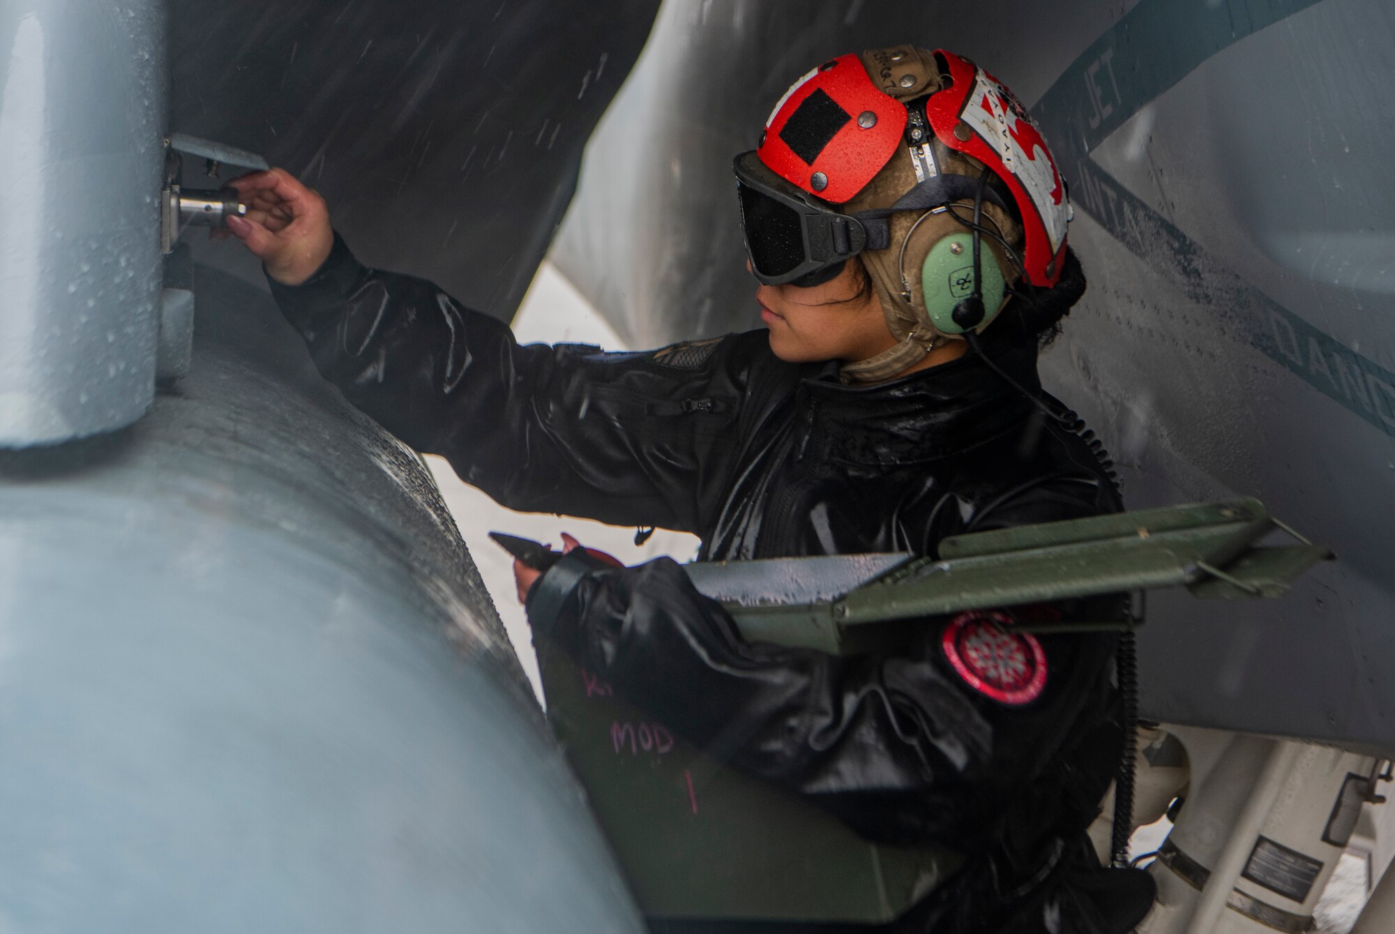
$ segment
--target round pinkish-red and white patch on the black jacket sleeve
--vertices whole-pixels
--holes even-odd
[[[940,647],[964,682],[979,694],[1020,707],[1046,687],[1046,650],[1031,633],[1011,630],[999,612],[960,613],[944,627]]]

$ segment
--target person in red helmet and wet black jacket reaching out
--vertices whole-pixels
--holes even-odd
[[[1038,382],[1085,280],[1006,88],[946,52],[843,56],[735,170],[767,328],[647,353],[519,346],[431,283],[363,266],[282,170],[234,183],[250,212],[229,226],[325,378],[512,509],[691,531],[700,560],[739,560],[935,555],[1122,507]],[[668,559],[582,549],[516,573],[536,631],[688,740],[866,838],[970,853],[897,930],[1131,926],[1087,895],[1084,828],[1120,750],[1113,636],[1036,637],[985,611],[831,657],[742,641]]]

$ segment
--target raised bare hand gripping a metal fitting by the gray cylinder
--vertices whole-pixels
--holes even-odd
[[[285,169],[254,171],[227,184],[247,205],[247,216],[229,217],[227,229],[266,265],[266,275],[286,286],[310,279],[335,245],[319,192]]]

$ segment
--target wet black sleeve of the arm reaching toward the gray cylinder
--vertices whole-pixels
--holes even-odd
[[[338,236],[308,282],[272,294],[319,372],[407,445],[512,509],[614,524],[700,528],[766,350],[759,335],[646,354],[519,346],[434,284],[363,266]]]

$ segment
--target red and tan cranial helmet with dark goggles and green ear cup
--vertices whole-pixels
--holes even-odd
[[[734,167],[756,279],[815,286],[862,257],[898,343],[844,367],[852,381],[982,330],[1018,277],[1050,287],[1064,265],[1070,204],[1039,128],[1000,81],[944,50],[823,63]]]

